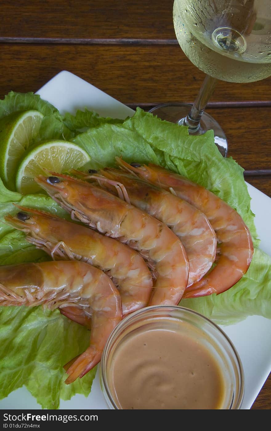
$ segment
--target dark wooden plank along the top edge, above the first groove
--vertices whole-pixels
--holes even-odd
[[[1,37],[176,39],[173,0],[1,1]]]

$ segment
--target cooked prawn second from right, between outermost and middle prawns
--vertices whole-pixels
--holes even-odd
[[[122,166],[129,165],[122,161]],[[203,212],[172,193],[148,183],[135,175],[118,169],[99,171],[105,177],[124,185],[132,205],[165,223],[182,241],[189,259],[187,286],[200,280],[211,268],[216,257],[216,234]],[[95,178],[96,175],[91,176]],[[87,177],[86,177],[87,178]],[[102,179],[102,178],[101,178]],[[99,182],[99,177],[97,177]],[[116,188],[108,182],[100,186],[114,193]]]

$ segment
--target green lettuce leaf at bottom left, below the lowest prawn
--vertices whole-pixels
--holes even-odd
[[[0,398],[25,385],[44,409],[88,395],[96,369],[66,385],[63,365],[89,345],[89,332],[42,306],[0,307]],[[67,375],[66,375],[67,376]]]

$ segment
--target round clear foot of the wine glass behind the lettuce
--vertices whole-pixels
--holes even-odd
[[[187,103],[166,103],[164,105],[155,106],[155,108],[150,109],[149,112],[157,115],[158,118],[161,118],[162,120],[180,124],[180,120],[189,114],[191,106],[192,105],[188,105]],[[217,148],[219,149],[222,156],[226,157],[228,152],[228,141],[225,133],[219,126],[218,122],[216,122],[216,120],[206,112],[202,114],[200,128],[193,133],[189,131],[189,134],[204,134],[210,129],[213,130]]]

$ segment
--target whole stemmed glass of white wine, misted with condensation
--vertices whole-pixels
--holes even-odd
[[[189,60],[207,74],[191,108],[167,103],[149,112],[189,127],[189,134],[213,129],[215,143],[227,155],[225,134],[204,112],[218,80],[253,82],[271,75],[270,0],[174,0],[177,40]]]

